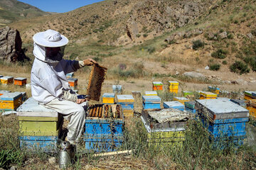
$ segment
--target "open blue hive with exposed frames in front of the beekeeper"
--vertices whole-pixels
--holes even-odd
[[[89,108],[101,111],[92,113],[85,120],[85,132],[82,136],[86,152],[111,152],[122,146],[124,115],[119,105],[104,105]]]

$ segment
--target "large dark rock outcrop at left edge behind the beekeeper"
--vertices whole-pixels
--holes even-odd
[[[7,62],[23,61],[22,41],[18,30],[5,27],[0,29],[0,60]]]

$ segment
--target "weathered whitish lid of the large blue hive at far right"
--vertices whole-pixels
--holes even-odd
[[[238,104],[228,101],[223,98],[218,99],[203,99],[196,100],[196,105],[198,103],[198,109],[206,108],[209,112],[210,118],[214,119],[225,119],[225,118],[240,118],[248,117],[249,111],[242,108]]]

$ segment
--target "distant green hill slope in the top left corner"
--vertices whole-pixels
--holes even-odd
[[[16,0],[1,0],[0,1],[0,26],[6,25],[6,23],[11,23],[18,21],[23,18],[32,18],[37,16],[48,15],[44,11],[25,4],[21,1]]]

